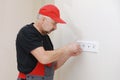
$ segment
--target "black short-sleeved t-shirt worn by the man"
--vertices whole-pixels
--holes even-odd
[[[17,65],[22,73],[30,73],[37,64],[36,58],[30,53],[37,47],[53,50],[52,42],[48,35],[41,35],[33,26],[34,23],[24,26],[16,38]]]

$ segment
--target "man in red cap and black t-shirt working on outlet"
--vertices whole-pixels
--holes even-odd
[[[57,29],[60,18],[58,8],[52,4],[43,6],[35,23],[24,26],[17,34],[17,80],[53,80],[54,71],[71,56],[81,53],[77,43],[70,43],[54,50],[47,34]]]

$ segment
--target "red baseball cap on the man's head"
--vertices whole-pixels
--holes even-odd
[[[40,8],[39,14],[48,16],[57,23],[63,23],[63,24],[66,23],[64,20],[60,18],[60,11],[55,5],[47,4],[43,6],[42,8]]]

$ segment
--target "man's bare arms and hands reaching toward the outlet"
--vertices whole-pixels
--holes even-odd
[[[62,48],[45,51],[43,47],[38,47],[31,51],[32,55],[42,64],[48,64],[51,62],[58,62],[57,67],[64,64],[64,62],[76,53],[80,53],[80,46],[76,43],[66,45]],[[57,68],[56,67],[56,68]]]

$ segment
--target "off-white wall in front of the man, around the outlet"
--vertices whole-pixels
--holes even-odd
[[[61,67],[58,80],[120,80],[120,1],[55,0],[66,25],[58,25],[54,44],[98,41],[98,53],[83,52]],[[57,79],[56,79],[57,80]]]

